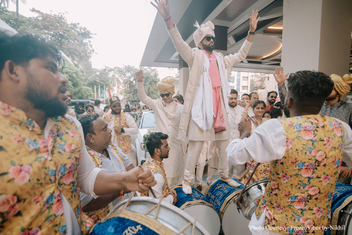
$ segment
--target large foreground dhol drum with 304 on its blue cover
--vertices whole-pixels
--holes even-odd
[[[94,225],[93,235],[210,235],[186,212],[151,197],[122,201],[104,221]]]

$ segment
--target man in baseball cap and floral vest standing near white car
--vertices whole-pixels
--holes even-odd
[[[111,132],[111,142],[119,146],[124,154],[126,154],[134,162],[131,154],[131,135],[138,134],[138,126],[131,115],[121,112],[121,101],[119,97],[113,96],[109,99],[110,111],[103,116],[104,121],[108,124]]]

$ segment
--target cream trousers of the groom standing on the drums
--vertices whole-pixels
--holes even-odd
[[[191,182],[194,179],[194,169],[197,165],[200,153],[203,149],[204,141],[190,140],[188,143],[188,152],[186,167],[184,168],[184,179]],[[216,140],[215,145],[219,149],[219,174],[221,178],[228,177],[228,163],[226,148],[229,140]]]

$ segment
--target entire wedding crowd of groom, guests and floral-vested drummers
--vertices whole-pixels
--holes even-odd
[[[240,186],[234,179],[269,180],[250,225],[270,229],[253,234],[286,234],[278,226],[292,221],[326,226],[335,183],[351,183],[352,104],[341,97],[352,76],[306,70],[288,76],[281,67],[274,73],[278,92],[270,91],[266,101],[255,92],[239,100],[228,76],[253,44],[258,11],[238,53],[224,56],[213,50],[212,22],[195,24],[192,49],[172,22],[168,1],[155,2],[190,76],[184,98],[166,77],[155,88],[161,99],[152,99],[138,70],[141,109],[125,105],[122,111],[113,96],[104,110],[95,100],[77,117],[68,107],[72,97],[58,49],[36,35],[0,34],[0,233],[88,234],[123,199],[140,195],[175,204],[171,186],[181,183],[192,194],[196,177],[202,190],[206,159],[209,167],[218,161],[220,180],[232,187]],[[150,158],[137,167],[130,155],[138,127],[127,112],[147,110],[154,111],[155,132],[145,142]],[[303,231],[312,232],[322,234]]]

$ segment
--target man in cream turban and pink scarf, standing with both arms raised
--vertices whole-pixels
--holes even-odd
[[[219,149],[220,179],[227,184],[238,187],[239,184],[228,177],[228,163],[226,148],[231,138],[227,113],[230,112],[228,98],[230,86],[228,76],[234,64],[241,62],[247,56],[252,45],[254,31],[259,18],[258,11],[252,12],[250,17],[250,31],[238,53],[223,56],[215,52],[216,43],[214,24],[208,21],[199,25],[193,33],[197,48],[190,48],[184,42],[177,27],[172,23],[169,14],[169,1],[157,0],[155,6],[166,22],[169,35],[177,52],[187,62],[190,75],[184,98],[178,138],[189,139],[189,147],[184,171],[182,190],[191,194],[190,182],[194,179],[194,169],[202,151],[204,141],[215,141]]]

